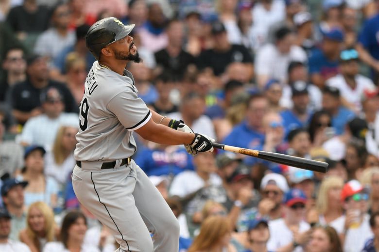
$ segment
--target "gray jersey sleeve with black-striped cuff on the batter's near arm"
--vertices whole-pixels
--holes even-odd
[[[152,116],[149,108],[135,92],[117,94],[109,101],[108,109],[131,131],[144,126]]]

